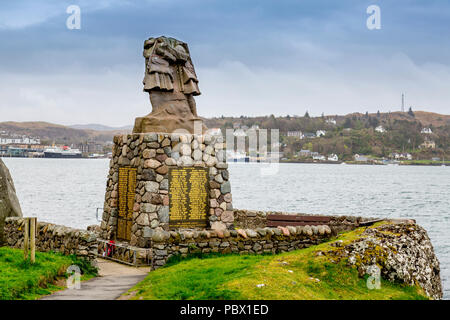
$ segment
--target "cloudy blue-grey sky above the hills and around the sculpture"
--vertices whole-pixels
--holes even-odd
[[[450,114],[449,34],[448,0],[2,1],[0,121],[133,124],[151,111],[143,41],[160,35],[189,44],[202,116],[394,111],[402,92]]]

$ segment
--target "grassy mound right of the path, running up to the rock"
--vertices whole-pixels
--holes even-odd
[[[342,235],[351,241],[361,231]],[[381,281],[370,290],[346,261],[318,251],[329,243],[274,256],[209,255],[171,261],[132,288],[131,299],[427,299],[419,287]]]

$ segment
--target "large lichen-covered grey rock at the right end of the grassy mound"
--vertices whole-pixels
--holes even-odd
[[[392,282],[419,285],[433,299],[442,299],[439,261],[425,229],[415,223],[381,223],[357,232],[346,243],[333,243],[325,252],[333,261],[346,259],[360,276],[372,275]]]

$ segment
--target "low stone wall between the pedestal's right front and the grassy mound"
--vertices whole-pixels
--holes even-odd
[[[328,240],[328,226],[238,229],[223,231],[157,231],[152,237],[152,269],[174,255],[193,253],[280,253],[306,248]]]

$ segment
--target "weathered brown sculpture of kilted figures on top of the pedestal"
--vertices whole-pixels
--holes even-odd
[[[144,91],[150,95],[152,112],[136,118],[133,133],[194,133],[197,121],[205,131],[197,115],[194,96],[200,90],[188,45],[174,38],[150,38],[144,42],[144,57]]]

